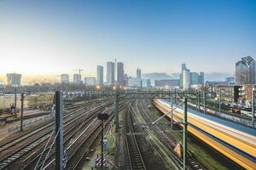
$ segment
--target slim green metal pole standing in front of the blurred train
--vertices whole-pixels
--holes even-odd
[[[188,112],[187,98],[183,98],[183,170],[187,168],[187,130],[188,130]]]

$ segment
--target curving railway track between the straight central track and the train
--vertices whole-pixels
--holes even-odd
[[[154,120],[156,119],[156,117],[154,117],[152,115],[152,113],[150,111],[148,111],[147,108],[147,104],[145,102],[145,100],[140,100],[137,103],[137,107],[139,109],[139,111],[142,113],[143,117],[146,119],[146,121],[148,122],[154,122]],[[163,133],[166,130],[165,126],[152,126],[150,127],[152,128],[157,136],[160,138],[160,140],[162,141],[163,144],[165,144],[166,148],[168,148],[169,150],[172,151],[172,154],[175,154],[173,152],[174,147],[177,145],[177,140],[173,139],[173,137],[168,134],[168,133]],[[193,170],[201,170],[204,169],[200,163],[198,163],[191,155],[190,153],[188,153],[188,165],[189,165],[189,169],[193,169]],[[172,155],[171,155],[172,156]],[[176,162],[178,167],[182,167],[183,165],[181,164],[181,162],[179,160],[177,160],[177,158],[172,156],[172,160],[174,162]]]

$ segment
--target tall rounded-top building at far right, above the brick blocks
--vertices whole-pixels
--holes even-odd
[[[255,84],[256,83],[256,65],[251,56],[243,57],[236,62],[236,84]]]

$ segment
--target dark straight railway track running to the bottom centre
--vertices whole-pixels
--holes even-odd
[[[137,144],[137,139],[135,135],[133,135],[133,125],[131,119],[131,110],[126,109],[125,112],[125,145],[126,145],[126,153],[125,153],[125,167],[126,169],[133,170],[146,170],[143,156]]]

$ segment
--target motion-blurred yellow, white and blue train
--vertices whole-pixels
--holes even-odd
[[[171,103],[154,99],[154,105],[172,117]],[[175,122],[183,120],[183,108],[173,111]],[[256,169],[256,130],[188,109],[188,131],[245,169]]]

